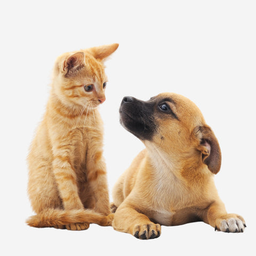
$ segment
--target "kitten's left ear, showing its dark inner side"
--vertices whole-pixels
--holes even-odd
[[[84,53],[76,52],[63,61],[62,71],[65,74],[74,74],[84,65]]]

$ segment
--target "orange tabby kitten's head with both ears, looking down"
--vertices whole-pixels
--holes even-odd
[[[95,108],[105,101],[107,76],[103,62],[118,44],[103,45],[62,54],[55,63],[53,90],[72,107]]]

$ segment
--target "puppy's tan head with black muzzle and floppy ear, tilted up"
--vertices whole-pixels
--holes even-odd
[[[161,93],[148,101],[124,97],[119,113],[124,128],[147,147],[185,162],[193,158],[212,173],[219,172],[218,140],[201,111],[186,97],[175,93]]]

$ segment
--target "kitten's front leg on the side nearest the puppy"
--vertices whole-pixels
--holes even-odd
[[[95,211],[108,215],[110,211],[109,194],[107,186],[106,164],[102,151],[93,154],[87,162],[87,179],[95,198]]]

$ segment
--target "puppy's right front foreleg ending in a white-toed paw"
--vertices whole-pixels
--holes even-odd
[[[215,230],[228,233],[243,232],[246,227],[243,217],[234,213],[228,214],[222,202],[211,204],[205,212],[203,220],[214,227]]]

